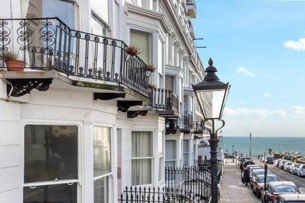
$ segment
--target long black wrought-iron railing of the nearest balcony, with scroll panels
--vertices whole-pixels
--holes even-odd
[[[121,40],[74,30],[57,17],[0,19],[0,55],[15,51],[26,62],[24,68],[125,85],[148,97],[146,64],[137,56],[125,60],[126,48]]]

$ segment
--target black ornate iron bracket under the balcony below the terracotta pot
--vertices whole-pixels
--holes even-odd
[[[10,96],[24,96],[25,94],[30,94],[32,89],[37,89],[39,91],[46,91],[49,89],[53,78],[30,78],[30,79],[7,79],[12,83],[12,87],[7,85],[6,92],[10,93],[12,89],[12,94]]]

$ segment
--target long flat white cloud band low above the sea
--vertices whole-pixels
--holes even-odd
[[[286,117],[287,112],[284,110],[268,110],[268,109],[248,109],[248,108],[237,108],[231,109],[225,108],[224,116],[257,116],[259,118],[266,118],[268,116],[280,116]]]

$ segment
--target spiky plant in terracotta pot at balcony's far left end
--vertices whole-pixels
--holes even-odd
[[[18,52],[15,51],[4,51],[0,59],[6,62],[8,71],[24,71],[26,66],[26,62],[18,60]]]

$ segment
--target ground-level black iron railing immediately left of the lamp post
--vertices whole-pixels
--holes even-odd
[[[167,188],[184,191],[195,202],[205,202],[211,197],[211,173],[198,166],[165,168]]]

